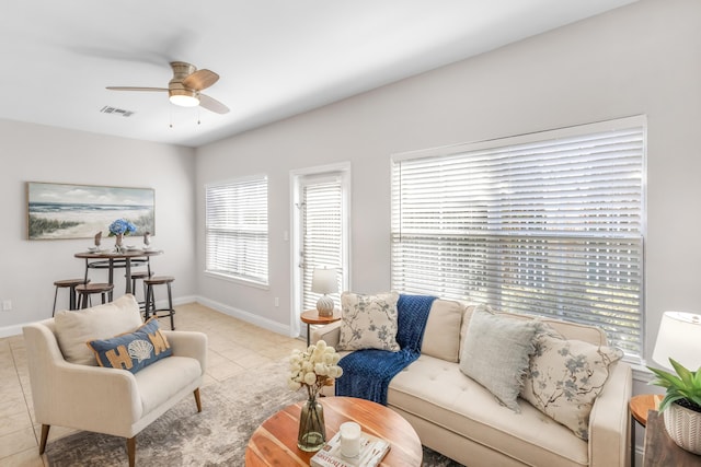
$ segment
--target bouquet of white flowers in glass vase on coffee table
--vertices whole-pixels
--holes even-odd
[[[306,386],[309,398],[315,399],[322,387],[331,386],[343,374],[338,360],[341,355],[323,340],[309,346],[303,352],[295,349],[289,358],[289,388],[298,390]]]

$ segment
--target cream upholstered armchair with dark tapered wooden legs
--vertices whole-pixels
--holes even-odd
[[[138,313],[138,304],[128,297],[129,313],[134,306]],[[93,311],[110,305],[113,304]],[[42,423],[39,454],[46,447],[49,428],[60,425],[126,437],[129,466],[134,466],[137,433],[188,394],[194,393],[197,411],[202,411],[199,386],[207,358],[207,336],[202,332],[161,330],[173,354],[133,374],[68,361],[64,357],[65,339],[57,335],[55,319],[27,325],[23,331],[34,416]],[[105,332],[102,329],[102,336],[94,338],[104,339],[120,331]]]

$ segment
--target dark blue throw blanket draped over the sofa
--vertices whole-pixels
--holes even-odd
[[[338,362],[343,376],[336,380],[336,396],[352,396],[387,406],[390,381],[421,354],[421,345],[435,296],[400,295],[397,302],[398,352],[364,349]]]

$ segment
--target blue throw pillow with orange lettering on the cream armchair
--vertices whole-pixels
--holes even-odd
[[[131,373],[173,354],[156,318],[149,319],[134,332],[92,340],[88,342],[88,347],[95,353],[100,366],[128,370]]]

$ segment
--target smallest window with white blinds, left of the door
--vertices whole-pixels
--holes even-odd
[[[267,285],[267,177],[205,191],[207,272]]]

